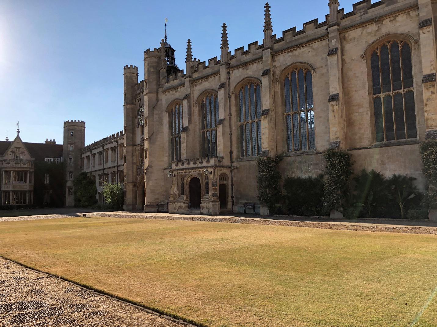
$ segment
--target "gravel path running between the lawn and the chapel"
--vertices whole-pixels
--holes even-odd
[[[55,218],[73,218],[83,214],[66,214],[66,215],[38,215],[24,217],[4,217],[1,221],[19,221],[34,219],[55,219]],[[434,234],[437,235],[436,222],[430,221],[393,221],[390,223],[385,220],[372,221],[309,221],[309,217],[238,217],[238,216],[208,216],[208,215],[177,215],[168,213],[144,213],[144,212],[91,212],[88,216],[109,217],[109,218],[142,218],[142,219],[163,219],[163,220],[187,220],[187,221],[212,221],[227,222],[233,224],[255,224],[255,225],[274,225],[274,226],[293,226],[308,228],[336,229],[347,231],[368,231],[368,232],[389,232],[389,233],[407,233],[407,234]],[[314,217],[316,218],[316,217]],[[378,221],[375,223],[375,221]],[[429,225],[429,226],[427,226]]]

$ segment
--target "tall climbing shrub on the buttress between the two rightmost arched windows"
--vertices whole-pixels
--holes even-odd
[[[327,150],[323,157],[326,160],[323,204],[330,211],[345,204],[352,175],[352,160],[346,150]]]

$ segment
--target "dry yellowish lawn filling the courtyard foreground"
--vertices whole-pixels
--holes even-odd
[[[0,222],[0,255],[214,327],[437,326],[435,235],[67,218]]]

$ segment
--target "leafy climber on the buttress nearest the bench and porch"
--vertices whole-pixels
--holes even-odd
[[[257,182],[258,182],[258,200],[262,204],[266,204],[269,212],[275,212],[275,206],[282,199],[281,192],[281,172],[279,171],[279,163],[283,159],[282,154],[277,154],[275,157],[257,158]]]

